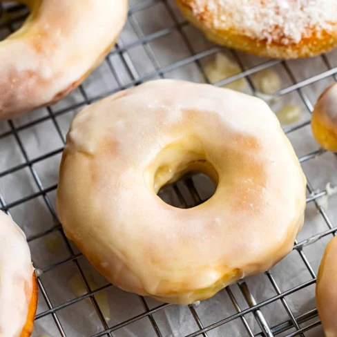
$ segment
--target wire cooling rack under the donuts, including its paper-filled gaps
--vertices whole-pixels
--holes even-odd
[[[26,8],[5,3],[0,10],[0,39],[17,29],[26,15]],[[254,74],[274,69],[284,85],[273,97],[287,102],[295,100],[302,106],[300,122],[284,130],[307,174],[305,228],[310,231],[298,238],[290,257],[274,269],[227,287],[200,305],[161,304],[126,294],[106,282],[93,289],[86,273],[90,267],[66,239],[55,212],[57,170],[71,119],[87,104],[150,79],[167,77],[209,82],[204,64],[220,51],[235,60],[242,71],[215,86],[245,79],[247,93],[254,94]],[[39,308],[35,322],[41,329],[39,333],[35,331],[34,336],[40,332],[50,336],[75,336],[75,331],[76,336],[91,337],[322,336],[314,304],[316,271],[325,244],[337,227],[333,224],[334,203],[326,210],[319,201],[327,194],[325,184],[334,177],[331,171],[336,170],[336,157],[318,147],[309,132],[309,124],[320,91],[336,79],[336,57],[332,55],[334,52],[301,61],[248,57],[206,41],[180,16],[173,1],[131,1],[128,22],[117,45],[82,86],[55,106],[0,126],[0,208],[23,227],[35,267],[41,274],[37,279]],[[189,177],[171,186],[168,194],[173,198],[172,203],[191,207],[208,198],[197,183]],[[46,247],[50,237],[57,239],[55,235],[64,251],[52,254]],[[71,273],[79,274],[84,294],[69,293],[65,266],[72,268]],[[307,278],[297,282],[299,273],[307,273]],[[286,280],[290,280],[289,286],[285,285]],[[110,291],[111,316],[117,316],[110,321],[106,320],[97,300],[104,291]],[[86,316],[87,311],[81,305],[92,307],[90,316]],[[276,306],[283,314],[275,317],[272,313],[276,312]],[[76,322],[80,323],[76,325]],[[91,322],[95,322],[94,327]],[[143,322],[142,325],[138,325],[139,322]]]

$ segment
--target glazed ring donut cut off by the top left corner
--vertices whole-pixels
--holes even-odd
[[[2,0],[0,0],[2,1]],[[0,42],[0,119],[57,102],[115,44],[127,0],[19,0],[31,14]]]

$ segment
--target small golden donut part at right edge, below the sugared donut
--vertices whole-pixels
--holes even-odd
[[[337,84],[329,86],[318,98],[311,115],[311,129],[320,146],[337,152]]]

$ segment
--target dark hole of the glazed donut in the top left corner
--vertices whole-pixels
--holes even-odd
[[[10,33],[19,30],[28,17],[30,9],[28,1],[2,1],[0,0],[0,41],[6,39]],[[8,29],[6,29],[8,28]]]

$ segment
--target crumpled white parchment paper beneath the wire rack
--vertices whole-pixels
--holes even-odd
[[[139,4],[151,3],[151,1],[140,0],[133,0],[130,2],[131,7]],[[195,52],[213,48],[213,45],[206,41],[198,30],[183,23],[184,19],[182,19],[177,8],[173,5],[173,1],[167,1],[167,3],[166,1],[153,2],[155,3],[153,6],[137,11],[129,18],[119,42],[119,48],[130,46],[128,50],[124,50],[123,55],[115,53],[110,56],[110,61],[115,68],[117,77],[113,76],[113,73],[111,73],[108,67],[108,63],[104,61],[104,63],[99,66],[99,68],[95,70],[84,83],[84,90],[86,90],[89,99],[92,99],[97,95],[105,95],[109,90],[113,90],[119,85],[128,85],[131,81],[137,79],[137,77],[151,75],[155,72],[156,68],[169,66],[174,62],[191,56]],[[173,14],[175,17],[172,17]],[[179,30],[181,30],[181,32],[178,29],[173,28],[176,24],[179,25]],[[148,35],[151,36],[153,33],[162,30],[168,30],[169,32],[157,39],[151,39],[146,46],[134,44],[139,38]],[[186,45],[186,41],[189,41],[190,46]],[[230,58],[233,58],[233,53],[230,50],[224,48],[222,52]],[[236,55],[239,57],[244,69],[262,64],[262,62],[267,60],[244,55],[241,52],[236,52]],[[331,62],[331,66],[337,66],[336,56],[337,51],[330,52],[327,55],[327,60]],[[135,66],[133,73],[128,72],[128,69],[126,68],[125,60],[127,59],[129,61],[131,60],[132,64]],[[200,67],[202,68],[207,62],[211,61],[211,59],[212,57],[204,57],[203,59],[200,59],[198,63],[192,62],[175,70],[168,71],[164,73],[164,77],[187,79],[197,82],[205,81],[200,72]],[[307,79],[327,70],[327,64],[325,64],[321,57],[300,61],[289,61],[287,62],[287,65],[293,72],[296,81]],[[283,68],[281,64],[273,66],[272,69],[282,78],[282,88],[286,88],[293,84],[291,77],[289,77],[289,74],[287,74],[285,68]],[[152,75],[151,79],[158,77],[160,77],[160,75]],[[323,79],[303,88],[301,92],[307,99],[309,99],[309,106],[314,105],[322,90],[333,82],[334,78],[329,77],[328,79]],[[248,94],[253,93],[248,85],[244,89],[244,92]],[[57,113],[64,108],[74,106],[75,104],[81,104],[81,102],[84,102],[84,98],[79,89],[77,89],[66,97],[66,99],[59,102],[59,104],[52,106],[51,112],[56,113],[55,123],[61,129],[63,137],[66,136],[71,120],[83,106],[59,115]],[[298,104],[302,108],[302,117],[298,123],[309,121],[309,111],[305,104],[303,104],[299,93],[296,91],[282,96],[276,104],[271,106],[271,108],[276,111],[282,105],[289,103]],[[19,127],[47,115],[48,110],[43,108],[16,119],[13,123],[15,126]],[[286,128],[287,127],[288,126],[286,126]],[[8,123],[1,123],[0,134],[8,131],[9,128],[10,126]],[[37,157],[55,151],[55,155],[32,164],[32,170],[37,173],[44,189],[48,189],[48,187],[57,184],[63,139],[59,137],[52,119],[47,119],[45,122],[35,126],[23,128],[23,130],[19,131],[18,136],[19,139],[21,139],[23,148],[25,149],[29,160],[35,160]],[[298,156],[311,153],[319,148],[311,135],[309,125],[289,133],[289,139]],[[17,166],[18,164],[23,164],[24,162],[25,159],[23,153],[17,145],[14,135],[9,135],[6,138],[0,139],[1,171]],[[337,184],[337,161],[336,157],[331,153],[325,153],[317,159],[304,162],[302,167],[309,182],[316,191],[324,190],[325,185],[328,182],[331,182],[333,185]],[[201,183],[201,186],[200,184],[198,185],[198,190],[206,196],[210,193],[210,188],[204,186],[204,182]],[[10,175],[0,177],[0,193],[7,204],[15,202],[24,196],[31,195],[32,193],[37,193],[38,191],[37,183],[33,180],[32,173],[28,167],[15,171],[15,173]],[[55,211],[55,190],[48,192],[46,198],[46,200],[44,200],[42,196],[32,198],[28,202],[19,204],[10,209],[10,214],[14,220],[20,224],[28,238],[32,238],[33,235],[38,235],[55,226],[55,221],[46,206],[46,201],[50,201]],[[168,193],[166,198],[169,200],[174,197],[172,193]],[[191,198],[191,196],[187,195],[187,198]],[[329,200],[327,215],[333,225],[335,224],[337,216],[336,204],[337,197],[332,196]],[[305,226],[298,235],[298,242],[328,229],[327,224],[320,213],[318,213],[314,202],[307,205],[305,215]],[[303,249],[314,273],[318,270],[325,245],[331,238],[332,235],[327,235],[325,238],[322,238],[321,240],[318,240],[318,242]],[[56,242],[56,248],[50,249],[50,242]],[[79,253],[73,244],[70,243],[70,247],[73,249],[74,253]],[[54,231],[42,238],[30,241],[30,249],[35,267],[39,269],[44,269],[52,264],[70,258],[71,256],[71,253],[66,246],[66,241],[64,240],[64,237],[62,237],[60,231]],[[78,262],[82,269],[90,275],[90,278],[93,278],[95,287],[102,287],[103,285],[108,284],[108,282],[104,280],[102,276],[99,276],[93,267],[90,266],[86,258],[81,257],[78,259]],[[297,251],[291,252],[287,258],[273,267],[271,273],[273,278],[275,278],[278,287],[280,287],[280,291],[296,287],[312,278]],[[75,293],[70,289],[70,280],[74,277],[76,278],[78,275],[79,272],[75,263],[70,261],[61,264],[59,267],[50,269],[40,276],[52,306],[55,307],[76,298]],[[276,296],[276,291],[264,274],[249,277],[246,279],[246,282],[257,302]],[[244,300],[238,285],[231,285],[230,289],[238,301],[240,308],[246,309],[248,305]],[[297,317],[316,307],[314,301],[314,289],[315,286],[312,285],[285,298],[287,305],[289,305],[289,309],[294,316]],[[120,291],[115,287],[109,287],[104,292],[106,293],[110,307],[110,314],[108,315],[109,319],[107,322],[109,327],[144,313],[144,307],[138,296]],[[161,304],[150,298],[146,298],[146,303],[150,309]],[[40,291],[37,313],[39,314],[48,309],[48,305]],[[213,322],[236,313],[226,290],[220,291],[220,293],[209,300],[202,301],[200,305],[195,306],[195,310],[204,326],[210,325]],[[280,300],[273,302],[266,307],[262,307],[261,311],[267,319],[269,326],[277,325],[285,320],[289,320],[287,311],[285,311],[285,307]],[[93,303],[90,302],[90,300],[81,300],[74,305],[58,310],[56,311],[56,316],[66,332],[66,336],[91,336],[104,330],[95,308],[93,307]],[[153,318],[155,319],[155,322],[157,322],[162,336],[180,337],[198,330],[198,325],[188,307],[172,305],[166,309],[155,312]],[[244,318],[247,320],[254,334],[260,332],[260,327],[253,314],[248,314],[247,316],[244,316]],[[315,320],[317,320],[317,318],[306,322],[305,325],[310,324]],[[303,326],[304,325],[301,325],[301,327]],[[287,333],[289,333],[289,331],[287,331]],[[61,336],[57,329],[57,325],[55,324],[55,318],[53,318],[52,315],[37,320],[35,331],[32,336],[37,337],[42,334],[48,334],[48,336],[51,337]],[[145,317],[122,329],[113,331],[112,335],[120,337],[146,337],[155,336],[155,331],[151,326],[151,321]],[[244,329],[242,320],[236,319],[226,325],[222,325],[218,329],[209,331],[208,336],[234,337],[249,335]],[[285,336],[285,334],[281,334],[280,336]],[[305,336],[323,336],[322,328],[318,327],[311,330],[305,333]]]

